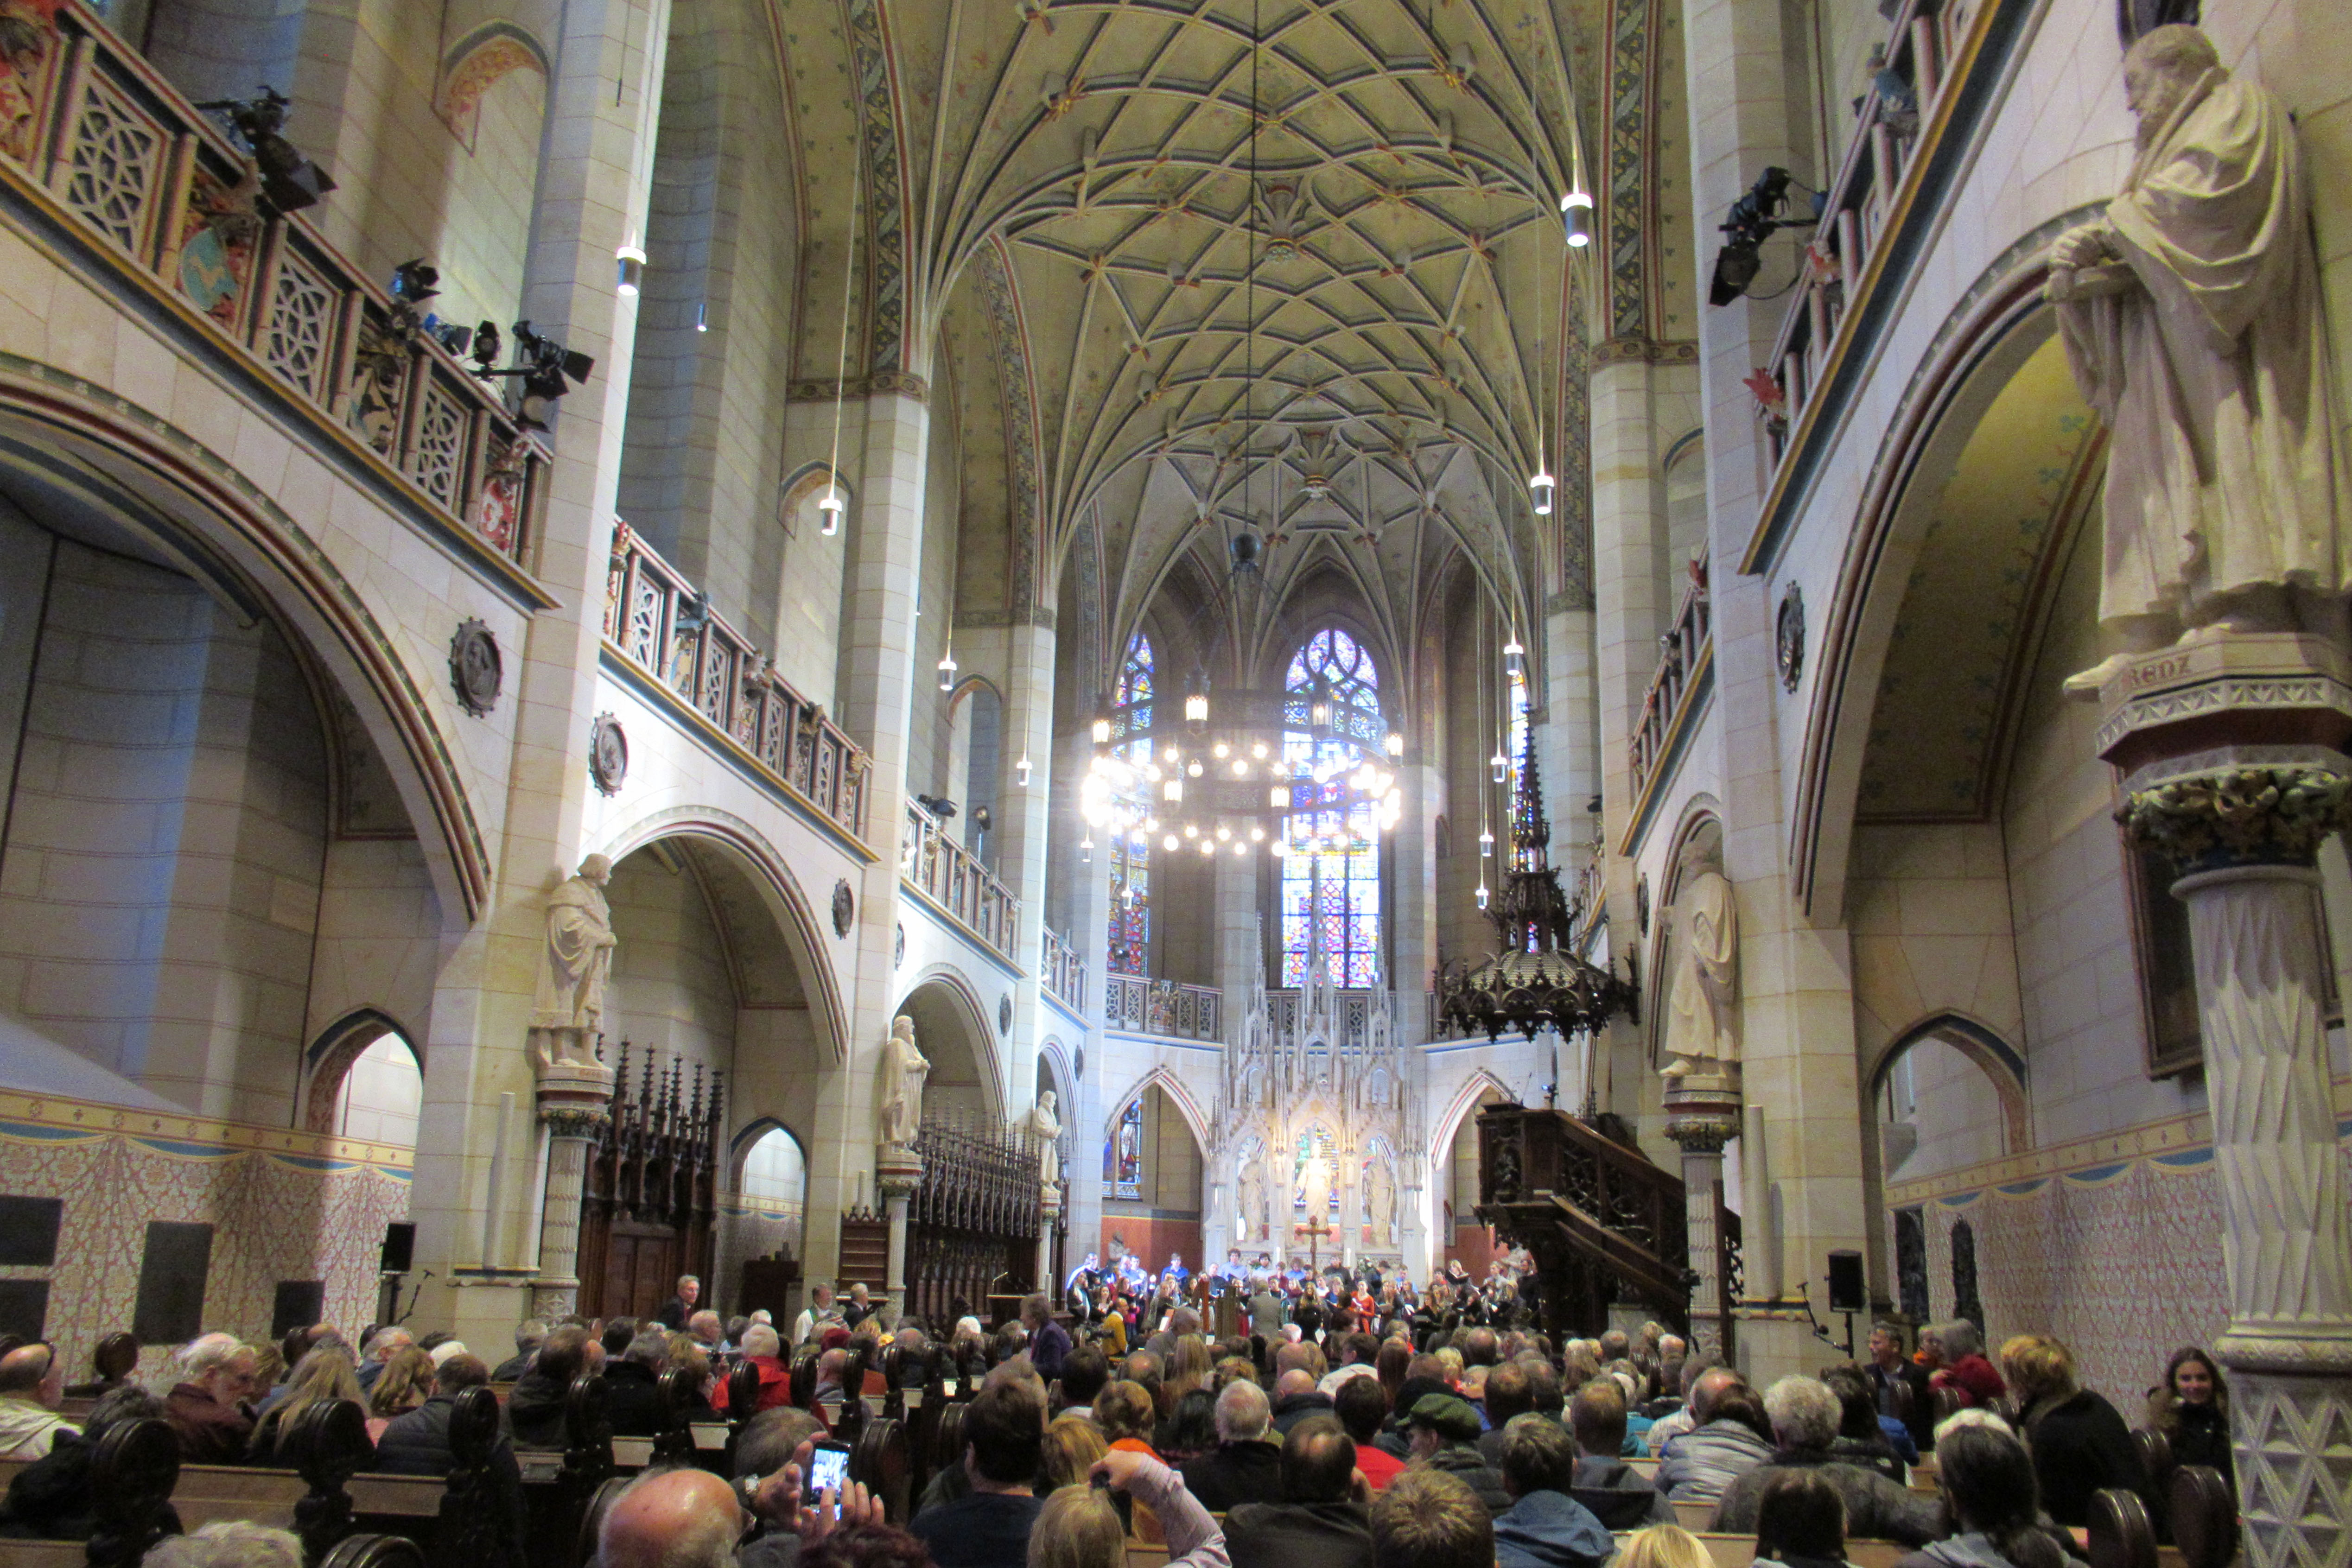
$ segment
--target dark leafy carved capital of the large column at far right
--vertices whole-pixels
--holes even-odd
[[[2326,837],[2352,825],[2352,773],[2321,762],[2230,762],[2136,785],[2117,813],[2126,835],[2183,877],[2312,865]]]

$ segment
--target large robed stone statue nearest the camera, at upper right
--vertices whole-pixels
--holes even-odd
[[[2211,40],[2159,26],[2124,54],[2138,155],[2105,216],[2051,247],[2046,299],[2107,423],[2098,618],[2124,651],[2067,682],[2218,632],[2340,635],[2319,259],[2286,106]]]

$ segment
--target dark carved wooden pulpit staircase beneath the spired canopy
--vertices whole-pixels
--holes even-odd
[[[1613,1119],[1604,1119],[1613,1121]],[[1477,1119],[1477,1218],[1536,1260],[1545,1328],[1590,1335],[1635,1300],[1675,1333],[1691,1321],[1682,1178],[1632,1140],[1541,1105]]]

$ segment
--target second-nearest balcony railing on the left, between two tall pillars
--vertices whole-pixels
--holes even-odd
[[[866,752],[626,522],[612,529],[604,642],[774,783],[866,839]]]

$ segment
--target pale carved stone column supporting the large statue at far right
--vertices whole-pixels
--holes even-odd
[[[2100,691],[2124,823],[2190,907],[2253,1568],[2352,1556],[2352,1211],[2321,1013],[2319,844],[2352,825],[2352,663],[2296,635],[2152,654]],[[2190,715],[2183,719],[2180,715]],[[2314,745],[2324,736],[2331,743]],[[2216,745],[2220,741],[2220,745]]]

